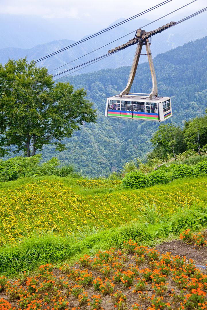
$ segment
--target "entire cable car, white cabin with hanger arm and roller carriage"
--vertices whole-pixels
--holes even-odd
[[[175,22],[166,24],[158,29],[146,33],[142,29],[137,29],[136,36],[127,43],[108,51],[109,54],[114,53],[127,46],[137,44],[132,68],[129,74],[128,83],[125,89],[113,97],[107,98],[106,117],[128,118],[145,121],[163,122],[172,116],[171,100],[169,97],[158,97],[157,81],[155,68],[152,60],[149,39],[152,35],[173,26]],[[146,54],[150,66],[152,76],[152,91],[150,94],[130,93],[130,89],[135,77],[137,65],[142,51],[142,46],[146,47]]]

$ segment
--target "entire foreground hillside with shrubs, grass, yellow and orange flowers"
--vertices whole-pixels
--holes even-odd
[[[128,162],[102,179],[56,158],[1,161],[0,309],[205,309],[206,158]]]

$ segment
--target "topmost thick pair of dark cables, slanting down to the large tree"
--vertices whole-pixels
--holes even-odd
[[[80,44],[80,43],[82,43],[82,42],[85,42],[85,41],[87,41],[87,40],[89,40],[89,39],[91,39],[91,38],[94,38],[94,37],[98,36],[99,34],[105,33],[106,31],[109,31],[109,30],[111,30],[111,29],[113,29],[113,28],[115,28],[115,27],[118,27],[118,26],[120,26],[120,25],[122,25],[122,24],[124,24],[124,23],[126,23],[126,22],[128,22],[128,21],[130,21],[130,20],[133,20],[134,18],[137,18],[138,16],[144,15],[144,14],[146,14],[146,13],[152,11],[152,10],[155,10],[156,8],[161,7],[161,6],[163,6],[164,4],[167,4],[167,3],[171,2],[171,1],[173,1],[173,0],[165,0],[164,2],[161,2],[161,3],[157,4],[157,5],[155,5],[154,7],[151,7],[151,8],[149,8],[149,9],[147,9],[147,10],[145,10],[145,11],[139,13],[139,14],[136,14],[136,15],[134,15],[134,16],[132,16],[132,17],[129,17],[128,19],[123,20],[122,22],[119,22],[119,23],[117,23],[117,24],[115,24],[115,25],[113,25],[113,26],[110,26],[110,27],[108,27],[108,28],[106,28],[106,29],[103,29],[103,30],[101,30],[101,31],[99,31],[99,32],[97,32],[97,33],[94,33],[94,34],[92,34],[91,36],[89,36],[89,37],[87,37],[87,38],[84,38],[84,39],[82,39],[82,40],[80,40],[80,41],[78,41],[78,42],[75,42],[75,43],[73,43],[73,44],[71,44],[71,45],[69,45],[69,46],[67,46],[67,47],[64,47],[64,48],[58,50],[58,51],[55,51],[54,53],[51,53],[51,54],[49,54],[49,55],[46,55],[46,56],[44,56],[44,57],[42,57],[42,58],[39,58],[39,59],[37,59],[37,60],[34,60],[33,63],[37,63],[37,62],[42,61],[42,60],[44,60],[44,59],[47,59],[47,58],[49,58],[49,57],[51,57],[51,56],[53,56],[53,55],[56,55],[56,54],[58,54],[58,53],[60,53],[60,52],[62,52],[62,51],[65,51],[65,50],[67,50],[67,49],[69,49],[69,48],[71,48],[71,47],[74,47],[74,46],[76,46],[76,45],[78,45],[78,44]]]

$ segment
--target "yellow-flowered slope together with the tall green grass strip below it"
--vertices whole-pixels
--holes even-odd
[[[0,273],[14,274],[205,227],[207,177],[141,189],[124,189],[120,180],[24,177],[1,183],[0,203]]]

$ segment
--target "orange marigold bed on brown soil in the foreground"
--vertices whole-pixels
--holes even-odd
[[[121,250],[84,255],[74,267],[47,264],[36,276],[1,277],[0,284],[0,309],[207,308],[207,275],[191,259],[133,241]]]

